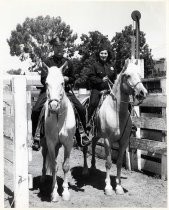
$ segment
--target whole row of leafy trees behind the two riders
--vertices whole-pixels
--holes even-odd
[[[90,66],[96,61],[99,46],[106,43],[109,47],[114,68],[119,73],[125,59],[131,57],[131,36],[134,33],[132,26],[129,25],[121,32],[117,32],[110,41],[108,36],[99,31],[92,31],[82,34],[81,42],[76,46],[74,42],[77,39],[77,34],[73,34],[73,30],[61,20],[61,17],[38,16],[37,18],[26,18],[22,25],[18,24],[16,30],[11,32],[7,42],[10,54],[18,56],[21,61],[30,58],[33,65],[29,70],[36,71],[39,61],[46,59],[53,52],[49,41],[55,36],[64,37],[67,56],[71,58],[75,69],[75,86],[89,88],[88,72]],[[78,51],[80,58],[72,58],[75,51]],[[142,31],[140,31],[140,58],[144,59],[145,77],[149,77],[154,68],[154,61],[151,49],[146,44],[145,33]]]

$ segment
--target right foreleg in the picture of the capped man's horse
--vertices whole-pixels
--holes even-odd
[[[69,159],[70,159],[70,151],[65,149],[64,162],[62,165],[62,169],[64,172],[64,181],[63,181],[63,185],[62,185],[63,186],[62,197],[63,197],[63,200],[65,200],[65,201],[70,200],[70,192],[68,189],[68,172],[70,170]]]

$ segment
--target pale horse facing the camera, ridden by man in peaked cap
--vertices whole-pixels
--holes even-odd
[[[64,147],[62,197],[64,200],[70,199],[68,190],[69,158],[73,147],[76,123],[73,107],[64,90],[62,69],[66,65],[67,63],[61,68],[48,68],[46,79],[47,101],[45,103],[45,137],[42,139],[43,169],[41,182],[45,180],[46,171],[49,169],[53,176],[51,200],[54,202],[59,200],[56,175],[57,155],[61,145]]]

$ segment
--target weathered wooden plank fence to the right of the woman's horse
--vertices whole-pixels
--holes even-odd
[[[139,107],[136,107],[138,116],[132,117],[138,131],[136,136],[130,139],[131,169],[152,172],[160,175],[162,179],[166,179],[167,96],[164,88],[165,78],[154,81],[156,84],[159,83],[158,90],[160,91],[155,93],[154,87],[154,93],[149,94],[144,102]],[[153,80],[150,80],[150,83],[153,84]]]

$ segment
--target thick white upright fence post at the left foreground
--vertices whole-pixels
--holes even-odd
[[[12,79],[14,99],[14,206],[29,207],[26,78]]]

